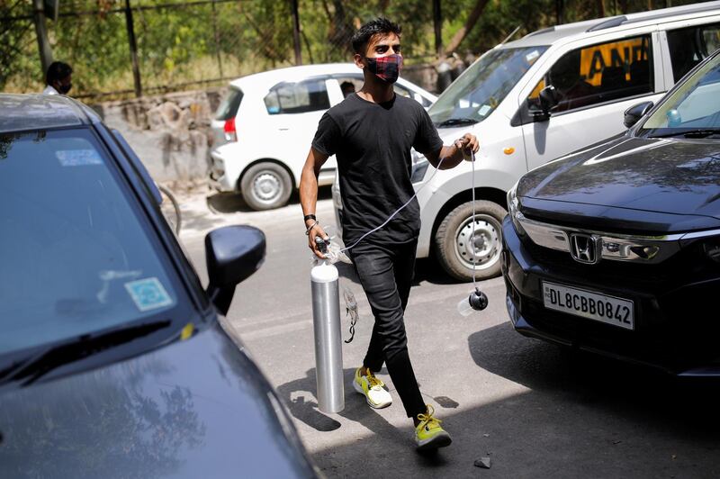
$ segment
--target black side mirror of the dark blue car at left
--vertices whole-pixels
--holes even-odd
[[[228,313],[235,286],[262,266],[265,250],[265,234],[252,226],[225,226],[205,236],[207,294],[222,314]]]

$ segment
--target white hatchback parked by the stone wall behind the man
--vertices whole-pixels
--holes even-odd
[[[287,203],[300,183],[302,165],[320,117],[347,92],[363,85],[363,71],[353,63],[281,68],[230,83],[228,95],[211,123],[211,185],[239,190],[254,210]],[[437,97],[400,78],[395,92],[428,108]],[[329,158],[319,184],[330,185],[336,160]]]

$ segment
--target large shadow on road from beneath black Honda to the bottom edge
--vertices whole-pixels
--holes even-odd
[[[374,434],[338,436],[342,442],[316,449],[316,464],[332,476],[359,469],[383,477],[720,474],[716,382],[680,381],[642,366],[573,353],[523,338],[507,323],[473,333],[468,346],[477,366],[516,385],[513,393],[497,395],[487,389],[497,381],[474,384],[479,405],[441,413],[453,445],[436,456],[413,454],[410,425],[392,428],[357,395],[348,398],[343,415]],[[349,381],[352,371],[345,373]],[[453,371],[446,374],[457,375],[458,384],[464,380]],[[481,456],[491,457],[490,471],[473,465]]]

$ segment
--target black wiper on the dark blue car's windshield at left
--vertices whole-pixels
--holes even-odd
[[[153,321],[123,327],[99,334],[85,334],[79,338],[60,343],[38,354],[15,362],[0,370],[0,384],[23,381],[31,384],[59,366],[74,363],[107,349],[115,348],[133,339],[143,338],[170,325],[170,321]]]

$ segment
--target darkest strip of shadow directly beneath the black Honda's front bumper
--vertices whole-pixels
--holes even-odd
[[[498,345],[503,345],[498,348]],[[678,378],[571,348],[527,339],[509,324],[478,331],[468,338],[477,366],[534,394],[626,420],[648,421],[665,432],[716,438],[720,382]],[[720,459],[720,458],[719,458]]]

